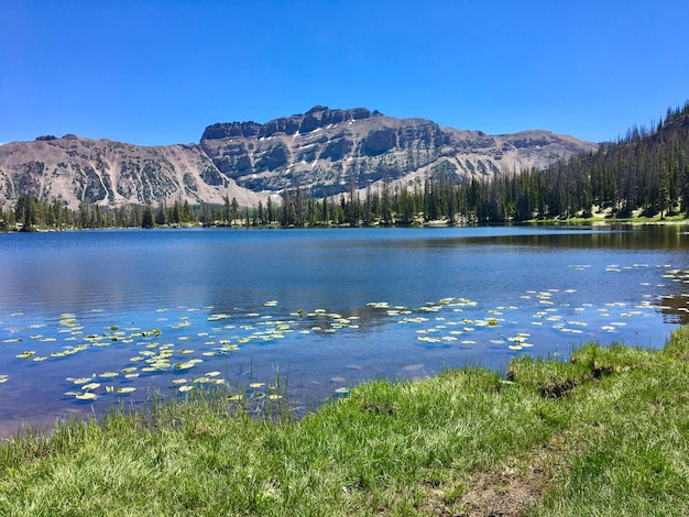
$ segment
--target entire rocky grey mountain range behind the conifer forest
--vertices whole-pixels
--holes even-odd
[[[365,108],[316,106],[264,124],[209,125],[200,142],[140,146],[76,135],[0,145],[0,202],[57,198],[70,207],[161,201],[242,206],[302,187],[335,195],[382,182],[420,184],[444,174],[466,177],[544,168],[598,145],[548,131],[486,135],[395,119]]]

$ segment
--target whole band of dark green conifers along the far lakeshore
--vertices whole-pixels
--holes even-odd
[[[689,101],[668,109],[652,127],[633,127],[624,138],[595,153],[555,161],[546,169],[461,178],[438,173],[382,188],[354,188],[314,198],[299,186],[280,202],[240,207],[175,201],[172,206],[101,207],[77,210],[58,200],[18,199],[0,213],[0,230],[72,228],[153,228],[166,226],[330,227],[468,224],[689,216]]]

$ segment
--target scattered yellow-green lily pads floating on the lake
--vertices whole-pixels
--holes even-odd
[[[573,265],[569,270],[586,272],[590,267]],[[630,270],[647,267],[650,266],[611,264],[605,270],[611,275],[623,275]],[[661,282],[689,284],[689,271],[669,265],[657,267],[661,271]],[[657,292],[665,284],[647,286]],[[664,304],[670,301],[669,297],[676,310],[689,312],[689,295],[685,294],[679,295],[683,297],[679,308],[677,295],[647,294],[634,304],[576,306],[571,302],[575,294],[573,289],[529,289],[514,305],[495,306],[484,306],[467,297],[446,297],[418,307],[379,300],[352,308],[348,314],[327,308],[282,309],[280,300],[271,299],[250,308],[158,308],[152,315],[144,315],[146,322],[141,326],[122,321],[128,319],[127,315],[100,310],[92,311],[97,318],[65,312],[52,323],[26,321],[23,314],[14,312],[9,315],[11,323],[0,322],[0,353],[11,365],[0,374],[0,385],[4,389],[15,376],[40,375],[40,370],[22,367],[40,369],[41,363],[59,361],[64,363],[61,395],[74,402],[133,394],[143,397],[152,384],[165,385],[171,394],[186,394],[210,386],[233,386],[237,378],[228,378],[227,365],[244,348],[298,340],[308,334],[330,339],[341,332],[367,332],[372,326],[384,330],[385,326],[394,324],[396,329],[408,328],[409,341],[427,349],[485,346],[520,353],[529,349],[538,351],[554,337],[570,342],[619,333],[636,318],[657,316]],[[527,320],[525,312],[531,315]],[[24,324],[14,324],[15,321]],[[94,355],[92,361],[75,360],[99,350],[106,354]],[[76,364],[79,366],[73,366]],[[249,377],[244,384],[243,389],[229,395],[230,402],[282,397],[275,386],[263,380]],[[333,395],[347,393],[346,387],[338,387]]]

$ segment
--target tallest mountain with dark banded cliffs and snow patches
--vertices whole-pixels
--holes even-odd
[[[455,180],[545,167],[597,144],[548,131],[486,135],[425,119],[394,119],[363,108],[317,106],[270,121],[210,125],[201,148],[218,169],[251,190],[306,187],[315,196],[385,179],[418,183],[433,174]]]

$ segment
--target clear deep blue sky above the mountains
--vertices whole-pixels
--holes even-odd
[[[314,105],[600,142],[689,99],[689,1],[0,0],[0,142]]]

